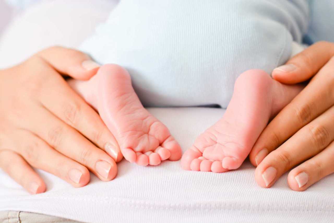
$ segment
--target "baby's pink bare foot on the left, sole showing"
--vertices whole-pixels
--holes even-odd
[[[124,68],[104,65],[91,80],[74,85],[99,111],[125,159],[146,166],[181,158],[180,145],[167,127],[143,107]]]

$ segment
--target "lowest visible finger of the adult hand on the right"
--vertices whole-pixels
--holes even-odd
[[[334,172],[334,142],[318,155],[290,171],[289,187],[294,191],[305,191],[315,182]]]

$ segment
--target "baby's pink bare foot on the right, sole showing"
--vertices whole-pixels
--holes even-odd
[[[244,72],[222,119],[183,154],[182,168],[212,172],[239,168],[269,119],[301,90],[301,85],[283,85],[262,70]]]

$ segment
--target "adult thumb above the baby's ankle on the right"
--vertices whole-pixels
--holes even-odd
[[[272,77],[285,84],[306,81],[334,56],[334,44],[317,42],[291,58],[285,65],[273,70]]]

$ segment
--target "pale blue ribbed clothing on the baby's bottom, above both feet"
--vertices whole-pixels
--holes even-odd
[[[306,0],[126,0],[80,50],[125,67],[146,106],[226,107],[242,72],[287,61],[308,12]]]

